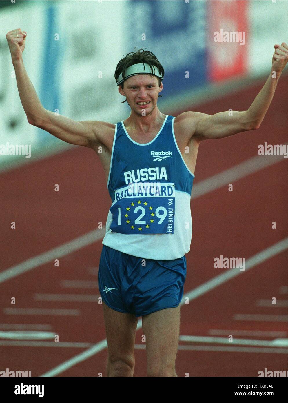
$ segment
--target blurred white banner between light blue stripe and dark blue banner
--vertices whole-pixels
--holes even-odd
[[[60,114],[114,123],[126,110],[114,79],[116,64],[127,48],[125,5],[122,1],[74,1],[67,9],[65,2],[59,3],[64,108]]]

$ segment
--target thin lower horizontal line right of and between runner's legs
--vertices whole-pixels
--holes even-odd
[[[145,350],[145,344],[135,344],[136,350]],[[193,350],[193,351],[224,351],[237,353],[269,353],[269,354],[288,354],[288,349],[278,349],[269,347],[234,347],[234,346],[187,346],[178,345],[178,350]],[[43,376],[43,375],[42,375]]]

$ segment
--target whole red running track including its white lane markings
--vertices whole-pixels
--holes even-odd
[[[287,159],[257,156],[257,146],[265,141],[287,142],[287,86],[288,76],[282,76],[257,131],[200,145],[191,200],[191,251],[186,255],[184,295],[190,300],[181,308],[178,376],[254,377],[264,368],[287,370]],[[251,87],[193,110],[245,110],[260,89]],[[161,101],[159,106],[161,110]],[[183,112],[161,111],[174,116]],[[75,147],[3,172],[0,189],[0,370],[105,376],[105,329],[97,303],[104,229],[98,230],[98,223],[105,226],[110,197],[95,152]],[[213,260],[220,255],[245,258],[251,267],[241,273],[216,269]],[[271,304],[273,297],[276,305]],[[37,339],[16,339],[17,331],[28,330],[37,331]],[[140,320],[135,376],[146,376],[142,334]],[[222,343],[229,334],[234,341]],[[272,342],[275,339],[280,341]]]

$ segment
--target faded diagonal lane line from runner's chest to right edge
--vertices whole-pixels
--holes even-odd
[[[267,156],[255,156],[249,158],[240,164],[232,166],[219,174],[213,175],[199,183],[195,183],[192,187],[191,199],[203,196],[215,189],[219,189],[222,186],[229,185],[232,182],[238,181],[248,175],[257,172],[267,166],[276,164],[283,161],[282,155],[267,155]]]

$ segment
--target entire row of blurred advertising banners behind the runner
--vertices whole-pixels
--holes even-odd
[[[5,35],[27,31],[23,60],[44,108],[74,120],[116,123],[130,108],[114,79],[134,48],[165,70],[160,108],[201,102],[209,86],[269,74],[273,45],[287,35],[288,1],[25,1],[0,8],[1,144],[31,144],[32,158],[73,147],[29,125]],[[81,18],[79,18],[81,15]],[[87,23],[89,21],[89,23]],[[225,32],[237,32],[227,42]],[[218,39],[217,39],[217,35]],[[264,39],[265,38],[265,39]],[[203,90],[203,95],[201,91]],[[2,155],[0,170],[29,162]]]

